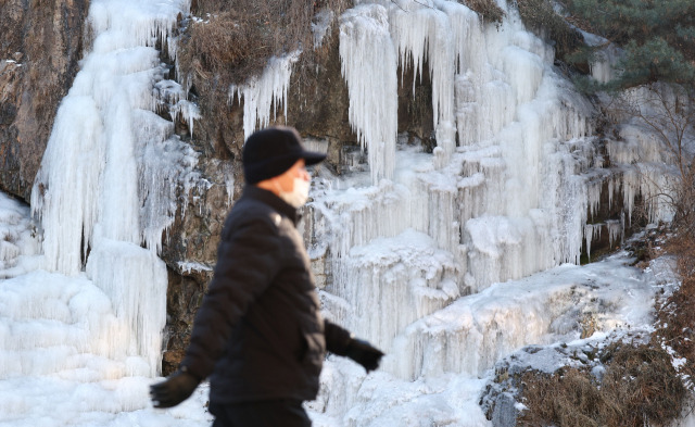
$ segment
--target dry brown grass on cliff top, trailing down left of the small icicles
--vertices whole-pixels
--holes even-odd
[[[348,3],[351,1],[193,1],[194,17],[182,21],[176,78],[190,89],[189,99],[206,117],[199,126],[201,148],[220,159],[238,155],[238,141],[243,139],[235,129],[240,128],[241,118],[229,102],[230,85],[243,85],[260,75],[271,56],[300,47],[302,56],[293,79],[300,79],[306,70],[315,71],[313,20],[326,9],[338,16]]]

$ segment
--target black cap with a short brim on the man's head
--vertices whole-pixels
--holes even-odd
[[[304,159],[308,166],[326,159],[326,154],[304,150],[300,134],[292,127],[277,126],[257,130],[243,146],[243,175],[247,184],[282,175],[300,159]]]

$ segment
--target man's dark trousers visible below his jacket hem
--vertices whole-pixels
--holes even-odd
[[[311,427],[312,420],[299,400],[267,400],[235,404],[211,404],[213,427]]]

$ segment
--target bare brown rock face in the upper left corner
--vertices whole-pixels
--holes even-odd
[[[83,51],[87,0],[0,4],[0,189],[29,199]]]

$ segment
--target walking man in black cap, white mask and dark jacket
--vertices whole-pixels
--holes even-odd
[[[217,265],[179,371],[151,387],[155,407],[188,399],[210,376],[213,427],[311,426],[302,402],[318,392],[326,351],[376,369],[383,353],[321,318],[296,209],[308,198],[296,130],[249,137],[247,187],[225,222]]]

